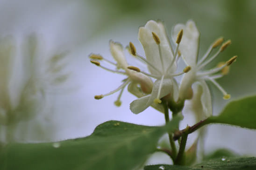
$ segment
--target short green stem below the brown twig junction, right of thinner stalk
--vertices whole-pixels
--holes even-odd
[[[185,147],[187,143],[187,136],[188,133],[183,133],[181,136],[181,142],[178,150],[178,155],[176,160],[174,161],[174,164],[176,165],[184,165],[185,164]]]

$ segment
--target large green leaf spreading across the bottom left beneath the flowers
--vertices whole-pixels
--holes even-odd
[[[131,170],[156,151],[159,138],[174,131],[179,118],[164,127],[109,121],[85,138],[58,143],[13,143],[0,153],[1,170]]]

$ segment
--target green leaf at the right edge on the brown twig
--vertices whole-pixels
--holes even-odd
[[[209,117],[210,122],[256,129],[256,96],[228,103],[219,116]]]

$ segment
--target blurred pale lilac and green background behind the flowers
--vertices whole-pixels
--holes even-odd
[[[232,45],[211,67],[238,55],[230,73],[218,82],[231,94],[231,100],[256,95],[255,7],[255,0],[0,0],[0,37],[12,35],[17,42],[23,42],[31,34],[38,35],[43,48],[48,49],[40,57],[66,52],[65,72],[69,75],[61,86],[45,88],[43,100],[47,104],[37,110],[36,116],[17,123],[14,140],[47,142],[83,137],[107,120],[163,125],[164,115],[152,108],[139,115],[131,113],[129,103],[135,96],[127,90],[122,95],[121,107],[114,105],[118,93],[94,100],[94,95],[117,88],[125,77],[97,68],[88,58],[96,53],[113,61],[109,40],[118,41],[124,47],[132,41],[139,54],[144,55],[137,39],[138,28],[151,19],[163,20],[169,35],[175,24],[194,20],[200,32],[199,56],[218,37],[231,39]],[[134,62],[128,53],[126,56]],[[227,101],[222,100],[219,90],[209,85],[213,93],[213,115],[217,115]],[[184,126],[192,125],[192,116],[185,117]],[[241,155],[256,156],[255,140],[253,130],[210,125],[205,149],[210,152],[225,147]],[[167,156],[156,156],[158,159],[150,159],[149,163],[170,161]]]

